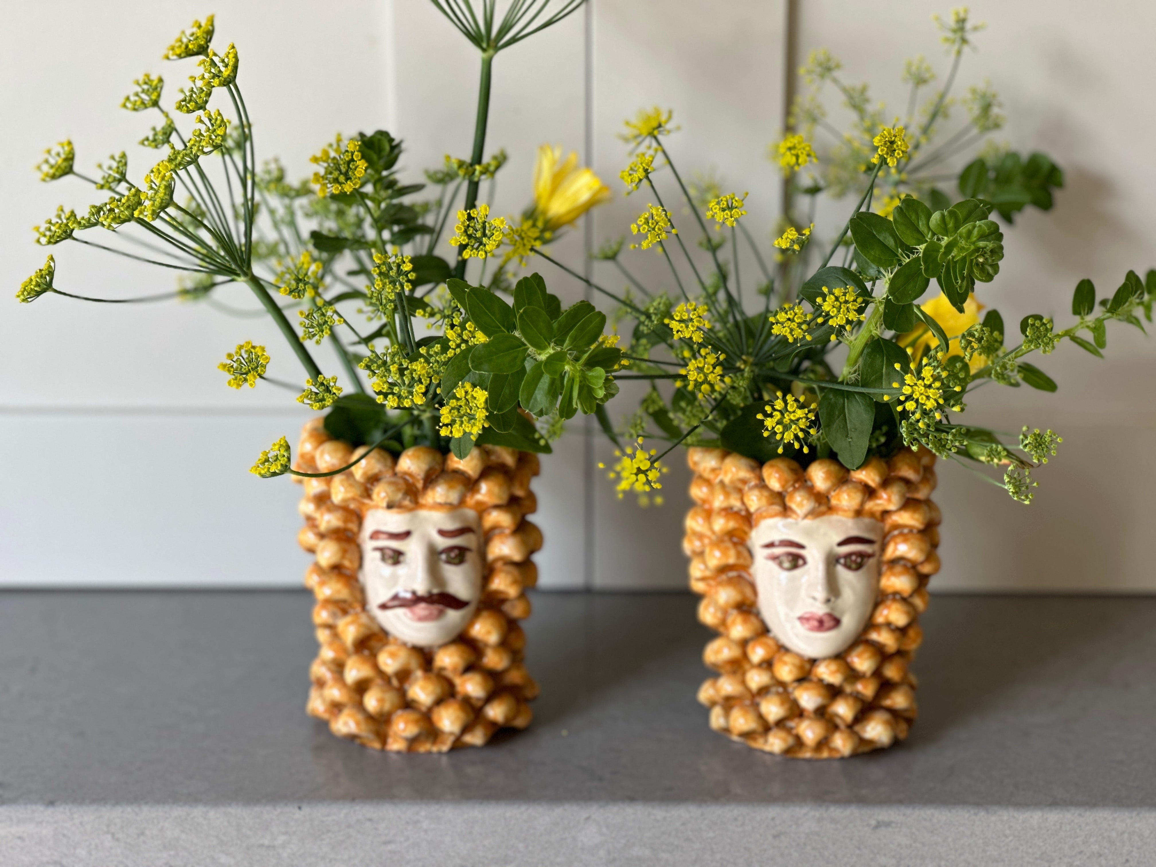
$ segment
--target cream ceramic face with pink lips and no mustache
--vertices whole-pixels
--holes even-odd
[[[764,520],[750,534],[758,612],[803,657],[833,657],[858,638],[879,592],[883,525],[873,518]]]

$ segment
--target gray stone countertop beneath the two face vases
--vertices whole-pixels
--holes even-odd
[[[1156,599],[934,598],[911,736],[839,762],[707,728],[690,595],[533,602],[532,727],[407,756],[305,716],[304,592],[0,593],[0,862],[1151,862]]]

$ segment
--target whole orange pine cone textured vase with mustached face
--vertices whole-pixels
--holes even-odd
[[[525,590],[542,534],[526,516],[538,455],[475,446],[465,460],[428,446],[394,458],[302,433],[298,541],[316,561],[319,645],[307,712],[340,738],[398,753],[481,747],[525,728],[538,684],[524,664]],[[295,476],[296,479],[296,476]]]

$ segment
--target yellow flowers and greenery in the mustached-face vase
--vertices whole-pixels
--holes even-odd
[[[540,275],[514,281],[506,266],[524,262],[531,247],[540,250],[609,191],[577,165],[577,155],[563,157],[550,146],[539,153],[533,203],[519,220],[491,216],[479,191],[506,161],[505,151],[483,158],[494,58],[583,0],[514,2],[501,15],[496,0],[481,0],[480,10],[470,0],[432,2],[482,60],[473,151],[468,160],[446,156],[444,166],[425,172],[436,198],[415,198],[427,185],[399,178],[401,142],[381,129],[338,135],[312,157],[309,180],[288,181],[275,160],[259,168],[237,82],[238,52],[232,44],[223,54],[214,51],[210,15],[164,54],[200,67],[180,91],[176,114],[162,106],[163,79],[149,73],[121,103],[160,116],[141,144],[165,155],[141,181],[129,179],[124,153],[99,165],[96,178],[81,173],[71,140],[51,148],[38,166],[45,181],[72,176],[111,193],[84,216],[59,208],[37,227],[38,243],[74,242],[173,269],[180,272],[178,289],[92,298],[58,287],[68,284],[50,255],[17,299],[55,294],[98,303],[212,303],[220,287],[243,283],[276,323],[305,379],[302,388],[271,377],[273,354],[247,340],[218,364],[230,387],[287,388],[298,402],[325,410],[326,431],[353,445],[394,452],[429,445],[458,459],[475,443],[548,452],[564,420],[593,413],[616,393],[612,375],[622,351],[603,336],[606,316],[593,305],[563,310]],[[181,113],[193,116],[191,131],[178,128]],[[98,228],[110,236],[94,239],[89,230]],[[439,254],[451,249],[453,257]],[[495,258],[501,265],[487,280]],[[339,372],[327,375],[311,354],[309,344],[323,341],[335,350]],[[281,437],[252,472],[328,476],[348,468],[302,472]]]

